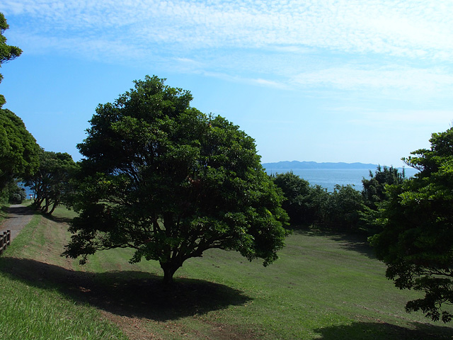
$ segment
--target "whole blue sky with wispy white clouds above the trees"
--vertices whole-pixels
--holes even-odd
[[[47,151],[157,75],[256,140],[263,162],[402,166],[453,121],[453,1],[2,0],[0,93]]]

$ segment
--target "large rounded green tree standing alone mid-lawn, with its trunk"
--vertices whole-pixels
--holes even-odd
[[[80,215],[64,254],[83,263],[98,250],[130,247],[132,263],[159,261],[165,283],[210,248],[264,265],[277,259],[287,215],[254,140],[191,99],[146,77],[98,106],[78,146],[86,157],[74,200]]]

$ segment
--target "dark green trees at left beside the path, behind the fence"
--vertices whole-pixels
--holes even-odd
[[[76,163],[66,152],[47,152],[21,118],[0,108],[0,204],[22,203],[25,188],[34,192],[35,208],[52,213],[64,200]]]

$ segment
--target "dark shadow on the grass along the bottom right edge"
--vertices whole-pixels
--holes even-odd
[[[315,329],[323,340],[367,340],[367,339],[398,339],[398,340],[443,340],[452,339],[453,329],[432,324],[412,323],[413,329],[400,327],[386,322],[354,322],[350,325],[323,327]]]

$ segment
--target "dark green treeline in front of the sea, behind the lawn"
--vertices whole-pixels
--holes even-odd
[[[405,174],[393,166],[378,166],[374,174],[369,171],[369,179],[362,179],[362,191],[350,185],[336,185],[332,192],[319,185],[311,186],[292,172],[271,177],[285,195],[282,208],[293,227],[316,225],[376,234],[376,214],[386,198],[386,185],[403,183]]]

